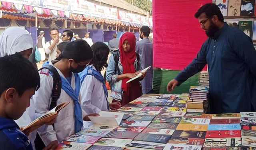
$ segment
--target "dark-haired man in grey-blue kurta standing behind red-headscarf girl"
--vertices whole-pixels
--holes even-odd
[[[146,77],[141,81],[142,92],[146,94],[152,90],[153,83],[153,45],[148,39],[150,34],[150,28],[148,26],[142,26],[140,28],[141,41],[136,42],[136,52],[140,55],[141,68],[147,68],[151,66],[147,71]]]

